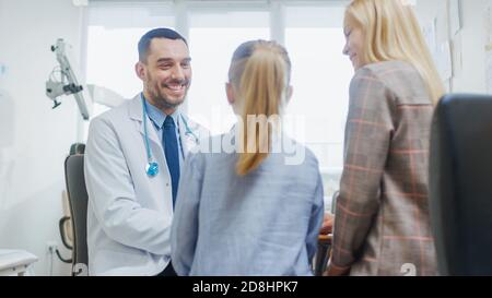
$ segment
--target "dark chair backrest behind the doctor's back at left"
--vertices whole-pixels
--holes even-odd
[[[65,160],[65,179],[70,203],[70,212],[74,230],[73,266],[81,269],[87,266],[87,190],[84,179],[84,156],[70,155]]]

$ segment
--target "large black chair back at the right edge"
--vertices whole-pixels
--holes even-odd
[[[448,95],[437,105],[430,205],[441,274],[492,275],[492,96]]]

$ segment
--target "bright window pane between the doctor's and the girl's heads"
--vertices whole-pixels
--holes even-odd
[[[194,79],[188,114],[212,134],[229,131],[236,118],[225,96],[235,48],[250,39],[270,39],[267,11],[195,12],[190,17]]]

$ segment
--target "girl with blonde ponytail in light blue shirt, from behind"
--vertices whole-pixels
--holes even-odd
[[[272,41],[235,50],[226,94],[238,123],[210,140],[235,150],[186,159],[172,228],[178,275],[313,275],[323,184],[313,153],[281,130],[290,70]],[[285,144],[304,158],[290,159]]]

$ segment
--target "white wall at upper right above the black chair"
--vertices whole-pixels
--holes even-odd
[[[461,53],[461,63],[457,59],[459,56],[455,55],[454,59],[453,92],[487,92],[485,7],[487,0],[461,0],[462,28],[455,36],[449,33],[447,0],[419,0],[417,2],[415,11],[422,25],[432,22],[437,16],[437,45],[452,40],[452,45],[456,47],[454,51]]]

